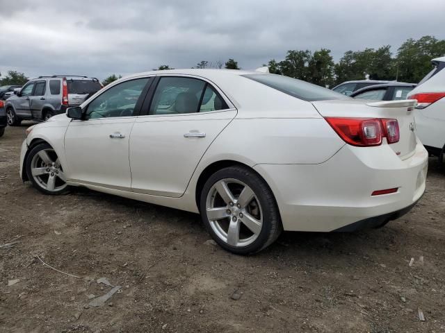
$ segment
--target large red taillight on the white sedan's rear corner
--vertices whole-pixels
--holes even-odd
[[[388,144],[400,139],[396,119],[325,118],[327,123],[347,144],[359,147],[380,146],[386,137]]]

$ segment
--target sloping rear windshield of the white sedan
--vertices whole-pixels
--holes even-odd
[[[350,97],[330,89],[313,85],[296,78],[276,74],[246,74],[245,78],[257,81],[280,92],[302,99],[303,101],[327,101],[332,99],[350,99]]]

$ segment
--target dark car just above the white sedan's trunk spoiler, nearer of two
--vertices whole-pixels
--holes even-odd
[[[370,85],[358,89],[352,94],[354,99],[369,99],[374,101],[400,101],[407,99],[407,94],[414,89],[414,83],[385,83],[383,85]]]

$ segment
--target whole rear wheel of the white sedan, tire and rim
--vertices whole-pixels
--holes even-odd
[[[212,238],[239,255],[266,248],[282,231],[272,191],[246,167],[228,167],[214,173],[202,189],[200,208]]]

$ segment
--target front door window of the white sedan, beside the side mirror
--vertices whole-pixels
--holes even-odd
[[[149,78],[125,81],[97,96],[86,110],[86,119],[131,117]]]

